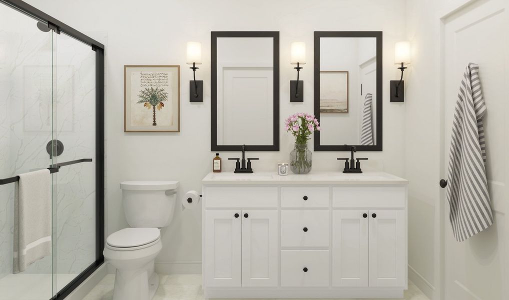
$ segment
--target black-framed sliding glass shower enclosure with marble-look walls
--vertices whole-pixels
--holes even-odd
[[[13,274],[16,176],[42,168],[52,253]],[[103,263],[103,246],[104,46],[0,0],[0,300],[63,299]]]

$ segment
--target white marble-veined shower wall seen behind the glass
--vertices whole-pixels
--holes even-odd
[[[95,161],[95,52],[63,34],[0,28],[0,176],[47,167],[52,138],[65,146],[53,162]],[[53,255],[26,273],[76,274],[95,260],[95,162],[61,168],[53,193]],[[14,185],[1,186],[0,277],[12,272],[13,201]]]

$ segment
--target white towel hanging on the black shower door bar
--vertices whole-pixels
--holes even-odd
[[[14,274],[51,254],[50,188],[48,169],[19,175],[14,196]]]

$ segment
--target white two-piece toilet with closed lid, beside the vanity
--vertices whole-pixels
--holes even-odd
[[[178,181],[120,184],[129,228],[106,238],[104,258],[117,268],[113,300],[150,300],[159,284],[154,259],[162,249],[160,229],[172,222]]]

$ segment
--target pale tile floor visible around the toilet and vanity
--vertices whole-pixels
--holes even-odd
[[[106,275],[83,300],[111,300],[114,280],[115,275]],[[429,300],[410,281],[408,282],[408,290],[405,291],[404,299]],[[203,300],[202,276],[194,274],[159,275],[159,287],[153,300]]]

